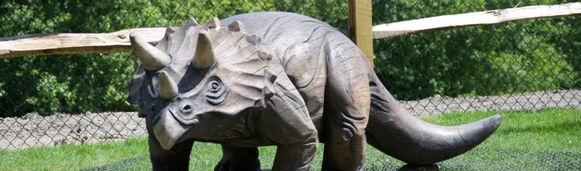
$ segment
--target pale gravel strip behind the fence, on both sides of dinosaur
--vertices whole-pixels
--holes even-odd
[[[417,117],[449,112],[535,111],[544,108],[581,109],[581,91],[556,90],[510,96],[474,98],[435,97],[401,101]],[[18,118],[0,117],[0,149],[52,146],[63,143],[98,143],[145,135],[145,121],[137,112],[58,114],[28,113]]]

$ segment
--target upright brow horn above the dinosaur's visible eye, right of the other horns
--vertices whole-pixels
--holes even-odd
[[[208,35],[206,30],[202,30],[198,35],[198,44],[196,44],[196,53],[193,55],[192,66],[196,69],[207,69],[214,66],[214,63],[216,63],[216,56],[210,42],[210,35]]]

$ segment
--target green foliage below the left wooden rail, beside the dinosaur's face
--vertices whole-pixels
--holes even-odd
[[[28,112],[52,115],[55,112],[80,113],[106,108],[129,109],[124,101],[132,59],[125,54],[54,55],[3,59],[0,116]],[[110,70],[109,70],[110,69]]]

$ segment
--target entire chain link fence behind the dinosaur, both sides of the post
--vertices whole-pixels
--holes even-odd
[[[518,3],[518,2],[517,2]],[[523,2],[519,6],[566,2]],[[512,1],[372,1],[374,25],[482,10]],[[295,12],[347,28],[347,0],[0,2],[0,37],[110,33],[207,23],[248,12]],[[524,20],[374,40],[375,72],[414,115],[578,108],[579,17]],[[0,59],[0,149],[141,136],[125,101],[132,52]]]

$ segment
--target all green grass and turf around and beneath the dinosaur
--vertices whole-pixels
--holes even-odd
[[[438,163],[441,170],[581,170],[579,110],[451,113],[423,119],[453,126],[492,115],[503,117],[496,133],[472,151]],[[322,146],[317,150],[311,170],[321,168]],[[405,164],[367,147],[366,170],[396,170]],[[263,168],[270,168],[276,148],[259,149]],[[220,145],[196,143],[190,170],[213,170],[220,158]],[[92,168],[95,166],[99,168]],[[151,170],[150,167],[145,138],[0,151],[0,170]]]

